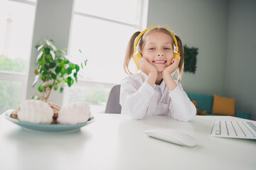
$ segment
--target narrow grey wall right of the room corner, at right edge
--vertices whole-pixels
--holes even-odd
[[[230,0],[225,94],[256,120],[256,1]]]

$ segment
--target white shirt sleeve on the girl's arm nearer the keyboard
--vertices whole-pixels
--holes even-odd
[[[188,98],[180,83],[176,82],[177,86],[173,91],[169,91],[171,98],[169,105],[169,115],[176,120],[187,122],[196,115],[196,106]]]

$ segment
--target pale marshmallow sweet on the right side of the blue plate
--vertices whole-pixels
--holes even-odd
[[[71,103],[58,113],[57,123],[75,125],[86,123],[90,118],[90,106],[85,102]]]

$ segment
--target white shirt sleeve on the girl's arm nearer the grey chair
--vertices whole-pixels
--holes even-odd
[[[139,86],[134,82],[124,80],[120,89],[121,113],[129,115],[133,119],[144,118],[153,95],[154,89],[148,83],[144,82]]]

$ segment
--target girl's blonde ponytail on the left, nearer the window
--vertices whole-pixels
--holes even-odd
[[[127,50],[125,52],[125,58],[124,58],[124,72],[126,72],[127,74],[132,74],[132,72],[129,71],[128,66],[129,66],[129,62],[132,58],[132,54],[134,52],[134,40],[135,40],[135,38],[137,38],[139,33],[140,33],[139,31],[134,33],[132,35],[132,38],[129,40],[128,45],[127,45]]]

